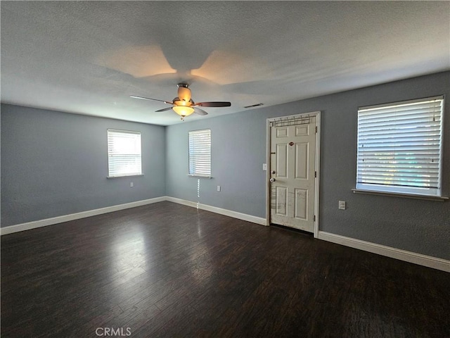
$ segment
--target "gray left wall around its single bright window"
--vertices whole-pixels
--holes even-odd
[[[108,128],[141,132],[143,176],[106,178]],[[165,127],[1,105],[2,227],[164,195]]]

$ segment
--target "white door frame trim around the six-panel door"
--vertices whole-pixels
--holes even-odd
[[[277,118],[268,118],[266,120],[266,225],[270,225],[270,168],[271,168],[271,156],[270,156],[270,146],[271,146],[271,122],[279,122],[283,120],[293,120],[297,118],[308,118],[316,116],[316,160],[314,163],[316,170],[316,180],[314,181],[314,238],[319,236],[319,177],[320,177],[320,159],[321,159],[321,112],[313,111],[311,113],[300,113],[295,115],[280,116]]]

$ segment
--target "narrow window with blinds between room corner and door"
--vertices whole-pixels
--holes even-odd
[[[189,132],[189,175],[211,177],[211,130]]]

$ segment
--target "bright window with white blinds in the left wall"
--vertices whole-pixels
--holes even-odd
[[[141,132],[108,129],[108,177],[142,175]]]

